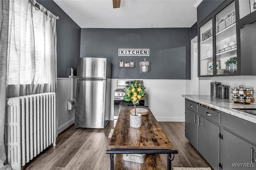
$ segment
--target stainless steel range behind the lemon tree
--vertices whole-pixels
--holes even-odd
[[[131,101],[124,101],[124,88],[128,87],[129,83],[132,83],[134,80],[117,80],[117,88],[114,90],[114,127],[116,125],[116,121],[118,119],[118,115],[121,107],[131,107],[134,106]],[[143,85],[143,80],[140,81],[140,84]],[[148,95],[146,94],[145,98],[140,100],[139,106],[136,107],[148,107]]]

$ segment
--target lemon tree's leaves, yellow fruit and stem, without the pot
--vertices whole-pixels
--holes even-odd
[[[136,115],[136,105],[140,104],[140,100],[145,97],[146,87],[140,84],[139,81],[134,80],[133,83],[129,83],[125,90],[124,101],[129,102],[132,101],[135,107],[135,115]]]

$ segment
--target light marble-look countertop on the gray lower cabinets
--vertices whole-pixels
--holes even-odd
[[[186,95],[183,94],[182,97],[192,100],[194,102],[212,107],[214,109],[223,111],[230,115],[234,115],[241,119],[250,121],[252,123],[256,123],[256,115],[252,115],[250,113],[246,113],[244,111],[239,111],[233,108],[256,108],[256,104],[235,104],[230,99],[220,99],[213,98],[210,95]]]

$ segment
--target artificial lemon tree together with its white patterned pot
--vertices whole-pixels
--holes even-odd
[[[145,97],[146,87],[140,84],[139,81],[134,80],[133,83],[129,83],[128,87],[125,88],[124,101],[131,101],[134,104],[134,113],[130,114],[130,126],[140,127],[141,126],[141,114],[136,114],[136,105],[140,104],[140,100]]]

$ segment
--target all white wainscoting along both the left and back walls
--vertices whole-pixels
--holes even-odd
[[[114,90],[118,79],[111,82],[110,120],[113,120]],[[143,80],[146,86],[148,106],[158,121],[185,121],[185,99],[182,94],[191,94],[191,80]],[[58,133],[74,123],[75,109],[69,111],[67,100],[70,98],[70,78],[58,78]],[[209,84],[202,93],[210,93],[210,80],[199,81],[199,86]],[[199,88],[200,89],[200,88]],[[207,89],[207,90],[206,90]],[[76,79],[73,97],[76,98]]]

